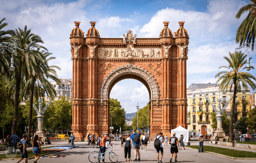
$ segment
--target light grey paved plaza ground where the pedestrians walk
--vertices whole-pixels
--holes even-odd
[[[113,144],[113,149],[111,151],[115,152],[118,157],[118,162],[124,163],[125,158],[124,158],[124,148],[121,147],[120,142],[114,141]],[[52,145],[43,145],[42,147],[46,146],[61,146],[61,145],[69,145],[67,140],[52,140]],[[38,160],[38,163],[89,163],[90,161],[88,160],[88,154],[91,151],[96,151],[98,148],[90,148],[89,145],[87,145],[87,142],[75,142],[75,145],[79,145],[79,148],[73,148],[69,149],[66,151],[62,152],[56,152],[55,154],[51,155],[68,155],[65,158],[40,158]],[[191,141],[190,145],[198,145],[198,141]],[[211,145],[209,144],[209,141],[205,141],[204,145]],[[219,146],[219,145],[214,145],[222,148],[232,148],[232,147],[227,147],[227,146]],[[186,147],[185,147],[186,148]],[[28,148],[28,149],[31,149]],[[237,150],[245,150],[243,148],[232,148],[232,149],[237,149]],[[255,149],[246,149],[246,151],[251,151],[251,152],[256,152]],[[140,150],[141,154],[141,162],[147,162],[147,163],[157,163],[156,159],[156,150],[154,149],[154,142],[151,141],[150,144],[148,144],[148,150],[147,151],[142,151]],[[170,160],[170,146],[164,146],[164,155],[163,155],[163,163],[168,163]],[[131,160],[134,160],[134,151],[132,149],[131,152]],[[186,150],[182,149],[179,150],[178,152],[178,162],[187,162],[187,163],[255,163],[256,160],[234,160],[231,158],[226,158],[222,157],[219,155],[215,154],[209,154],[209,153],[198,153],[197,150],[191,149],[191,148],[186,148]],[[28,160],[28,163],[33,163],[34,159]],[[17,160],[2,160],[0,163],[16,163]],[[102,160],[101,160],[102,162]],[[105,162],[110,163],[111,161],[109,160],[108,157],[106,157]],[[173,161],[174,162],[174,156],[173,156]],[[21,163],[24,163],[24,159],[21,161]]]

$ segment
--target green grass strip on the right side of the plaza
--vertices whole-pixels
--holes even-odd
[[[187,145],[187,147],[199,149],[199,145]],[[256,158],[256,153],[239,151],[236,149],[220,148],[215,146],[204,146],[204,151],[227,155],[230,157]]]

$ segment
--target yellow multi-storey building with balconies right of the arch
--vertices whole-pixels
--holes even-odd
[[[218,107],[218,98],[221,98],[222,109],[233,95],[233,92],[219,91],[218,84],[191,84],[189,88],[193,85],[197,85],[216,108]],[[194,133],[200,131],[200,134],[203,135],[212,134],[213,128],[210,127],[212,122],[210,122],[209,114],[214,110],[201,91],[199,89],[195,91],[187,90],[187,129],[190,133],[194,130]],[[244,95],[245,99],[243,99]],[[237,122],[241,117],[247,116],[248,110],[250,110],[250,89],[237,92],[235,98],[234,122]],[[224,110],[228,118],[231,115],[232,100]]]

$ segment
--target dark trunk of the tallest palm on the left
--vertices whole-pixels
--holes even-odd
[[[14,113],[13,113],[13,121],[12,121],[12,135],[16,134],[17,129],[17,121],[18,121],[18,106],[19,106],[19,98],[20,98],[20,83],[21,83],[21,72],[17,72],[16,74],[16,86],[15,86],[15,94],[14,94]]]

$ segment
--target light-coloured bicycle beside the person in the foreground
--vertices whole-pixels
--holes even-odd
[[[113,148],[113,145],[111,146]],[[114,152],[110,151],[110,148],[105,151],[105,153],[101,153],[101,150],[99,151],[91,151],[88,155],[89,161],[91,163],[98,163],[100,162],[101,159],[105,159],[105,155],[108,154],[108,158],[110,159],[111,162],[116,163],[117,162],[117,155]],[[103,156],[102,156],[103,155]]]

